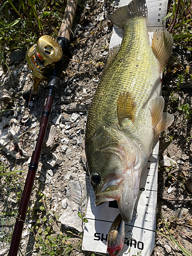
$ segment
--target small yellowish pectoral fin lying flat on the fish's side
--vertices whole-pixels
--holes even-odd
[[[135,121],[136,102],[134,96],[129,92],[121,92],[117,101],[117,116],[119,124],[122,125],[124,119]]]

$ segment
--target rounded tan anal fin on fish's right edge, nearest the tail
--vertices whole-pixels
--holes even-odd
[[[165,30],[164,32],[163,30],[156,30],[153,34],[152,49],[159,60],[160,69],[162,69],[165,66],[168,58],[172,54],[172,35],[167,30]]]

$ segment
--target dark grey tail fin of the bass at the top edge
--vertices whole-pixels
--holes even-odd
[[[109,19],[119,28],[133,17],[147,16],[147,7],[145,0],[133,0],[129,5],[120,7],[113,14],[109,15]]]

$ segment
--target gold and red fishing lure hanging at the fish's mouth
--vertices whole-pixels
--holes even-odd
[[[117,256],[124,245],[125,239],[125,222],[121,215],[117,215],[111,225],[108,239],[106,241],[107,250],[110,256]]]

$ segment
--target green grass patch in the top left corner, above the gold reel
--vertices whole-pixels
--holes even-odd
[[[34,45],[48,25],[49,28],[54,28],[49,34],[55,36],[58,20],[62,20],[62,4],[59,6],[55,3],[53,7],[49,7],[46,2],[36,0],[7,0],[0,8],[0,63],[3,61],[7,66],[5,53]],[[14,19],[14,16],[18,18]]]

